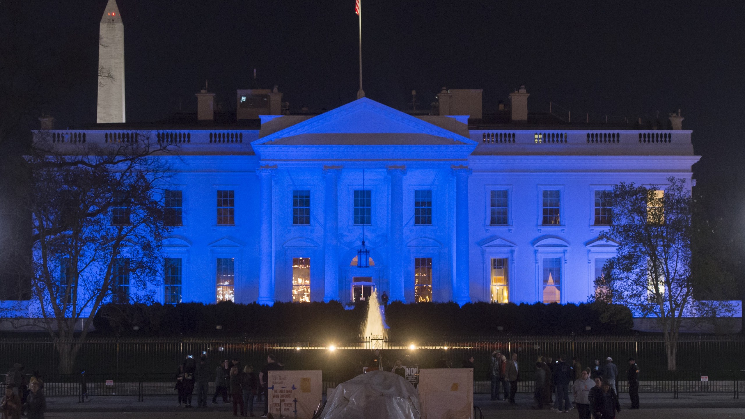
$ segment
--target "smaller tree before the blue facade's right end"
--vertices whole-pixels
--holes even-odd
[[[670,177],[668,182],[664,188],[619,183],[606,192],[612,224],[600,238],[619,246],[595,281],[595,300],[628,306],[635,317],[656,318],[665,338],[668,370],[674,371],[684,318],[726,315],[732,305],[696,298],[704,284],[708,294],[724,284],[692,274],[691,192],[683,179]]]

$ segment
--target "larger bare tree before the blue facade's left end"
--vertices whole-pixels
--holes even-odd
[[[162,277],[168,168],[148,133],[106,145],[53,144],[39,133],[28,161],[31,301],[4,317],[34,318],[70,373],[102,304],[144,302]]]

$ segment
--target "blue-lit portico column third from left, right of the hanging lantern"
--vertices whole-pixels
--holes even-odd
[[[390,176],[390,224],[388,229],[390,300],[406,302],[404,296],[404,174],[406,166],[388,166]]]

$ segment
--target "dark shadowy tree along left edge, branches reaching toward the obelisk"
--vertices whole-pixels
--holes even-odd
[[[71,22],[42,22],[38,7],[34,1],[0,1],[2,300],[27,300],[30,292],[30,215],[19,200],[29,188],[23,156],[31,148],[31,130],[39,127],[39,116],[59,107],[71,92],[113,78],[110,69],[98,66],[96,71],[100,37]]]

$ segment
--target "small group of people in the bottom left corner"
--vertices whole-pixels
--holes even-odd
[[[39,371],[34,371],[30,379],[26,379],[23,365],[15,364],[5,374],[5,394],[0,400],[0,411],[3,419],[44,419],[46,399],[44,397],[44,381]]]

